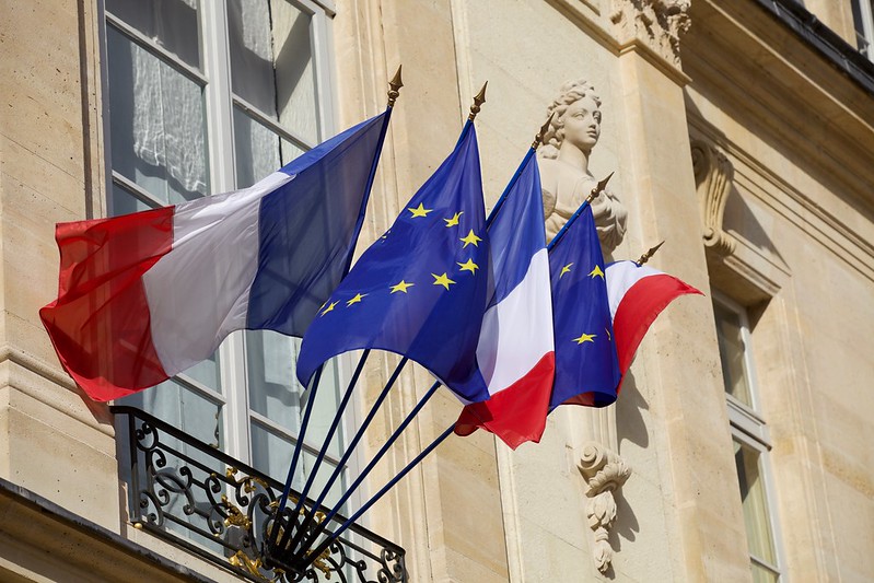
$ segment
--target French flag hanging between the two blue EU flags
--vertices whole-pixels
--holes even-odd
[[[510,447],[538,442],[546,428],[555,375],[549,257],[540,174],[534,150],[489,226],[494,293],[486,311],[477,360],[491,397],[467,405],[455,433],[477,428]]]

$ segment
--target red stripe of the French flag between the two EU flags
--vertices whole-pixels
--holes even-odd
[[[464,436],[482,428],[513,450],[526,441],[539,442],[555,374],[556,353],[549,352],[525,376],[489,400],[466,406],[455,423],[455,433]]]

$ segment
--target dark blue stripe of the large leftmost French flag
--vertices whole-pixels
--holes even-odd
[[[294,179],[261,199],[258,271],[246,327],[303,336],[346,275],[387,113],[281,168]]]

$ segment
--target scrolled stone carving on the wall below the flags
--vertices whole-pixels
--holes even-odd
[[[585,495],[589,527],[595,534],[592,555],[598,571],[605,573],[613,561],[609,543],[610,528],[616,521],[614,492],[631,476],[631,468],[618,454],[599,443],[589,442],[583,446],[580,473],[586,481]]]

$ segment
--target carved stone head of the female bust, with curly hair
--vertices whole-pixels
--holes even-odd
[[[580,149],[586,156],[601,136],[601,98],[591,83],[579,80],[564,83],[560,94],[547,107],[555,113],[544,136],[544,158],[557,158],[562,144]]]

